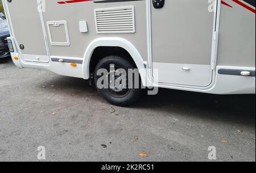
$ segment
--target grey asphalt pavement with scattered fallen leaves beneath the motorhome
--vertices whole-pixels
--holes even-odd
[[[116,107],[83,79],[0,60],[0,161],[255,162],[255,95],[160,89]],[[144,155],[143,155],[144,154]]]

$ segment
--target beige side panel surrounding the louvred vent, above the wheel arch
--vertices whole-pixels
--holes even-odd
[[[46,1],[43,12],[45,23],[65,20],[67,22],[70,45],[49,44],[51,56],[83,58],[88,45],[100,37],[121,37],[132,43],[144,60],[147,60],[146,1],[94,3],[94,1],[59,4],[59,1]],[[135,33],[97,33],[94,9],[134,6]],[[53,15],[54,14],[54,15]],[[80,32],[79,22],[86,21],[88,32]],[[47,27],[47,26],[46,26]],[[47,36],[48,36],[48,30]],[[61,32],[55,32],[61,37]],[[48,39],[49,41],[49,39]],[[108,46],[108,45],[106,45]]]

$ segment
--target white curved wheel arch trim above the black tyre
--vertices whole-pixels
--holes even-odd
[[[135,65],[139,70],[139,74],[141,75],[142,83],[144,86],[146,86],[146,67],[144,66],[145,63],[141,54],[134,47],[133,44],[119,37],[98,38],[93,40],[88,45],[88,48],[86,49],[84,54],[84,61],[82,62],[82,75],[84,79],[90,78],[90,61],[92,60],[94,50],[96,50],[98,47],[119,47],[125,49],[135,62]]]

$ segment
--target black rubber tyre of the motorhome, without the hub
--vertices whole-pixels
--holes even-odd
[[[121,56],[108,56],[103,58],[100,62],[98,62],[96,69],[94,71],[94,83],[96,85],[96,88],[98,92],[109,102],[114,104],[115,106],[131,106],[131,104],[134,104],[137,102],[137,100],[142,95],[142,89],[141,85],[139,88],[125,88],[121,91],[113,91],[109,88],[98,88],[97,81],[101,76],[97,75],[97,71],[99,69],[106,69],[108,72],[110,71],[110,64],[113,64],[118,69],[124,69],[127,73],[128,69],[137,69],[133,64],[131,64],[129,61],[127,61],[125,58]],[[128,73],[127,73],[128,74]],[[109,74],[108,74],[109,75]],[[105,75],[105,77],[107,77]],[[126,83],[128,83],[127,79]],[[131,79],[131,80],[134,80]],[[139,83],[141,84],[141,78],[139,78]]]

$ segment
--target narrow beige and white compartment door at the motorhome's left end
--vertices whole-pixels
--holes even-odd
[[[49,62],[42,22],[36,0],[5,2],[9,8],[14,34],[25,61]]]

